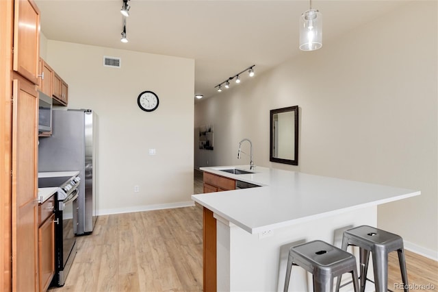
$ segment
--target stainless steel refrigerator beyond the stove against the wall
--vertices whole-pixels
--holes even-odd
[[[40,137],[38,171],[80,171],[75,234],[90,234],[96,222],[97,115],[92,110],[53,110],[52,135]]]

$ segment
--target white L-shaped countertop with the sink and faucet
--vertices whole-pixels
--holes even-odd
[[[255,167],[255,173],[235,175],[220,169],[202,171],[261,187],[192,195],[192,199],[247,232],[259,233],[359,208],[420,195],[420,191],[328,178],[296,171]]]

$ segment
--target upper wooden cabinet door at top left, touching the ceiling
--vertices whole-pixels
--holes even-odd
[[[14,2],[14,71],[38,84],[40,10],[33,0]]]

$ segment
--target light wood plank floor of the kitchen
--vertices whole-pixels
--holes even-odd
[[[195,171],[194,193],[202,193]],[[202,291],[202,209],[194,207],[100,216],[92,234],[77,237],[77,255],[57,291]],[[435,285],[438,263],[406,252],[409,284]],[[389,284],[401,282],[396,253],[389,256]],[[422,287],[420,287],[422,288]]]

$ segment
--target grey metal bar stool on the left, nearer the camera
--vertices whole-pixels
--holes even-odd
[[[333,278],[352,273],[355,291],[359,291],[356,258],[324,241],[310,241],[289,249],[284,291],[289,289],[292,265],[298,265],[313,275],[313,291],[333,291]]]

